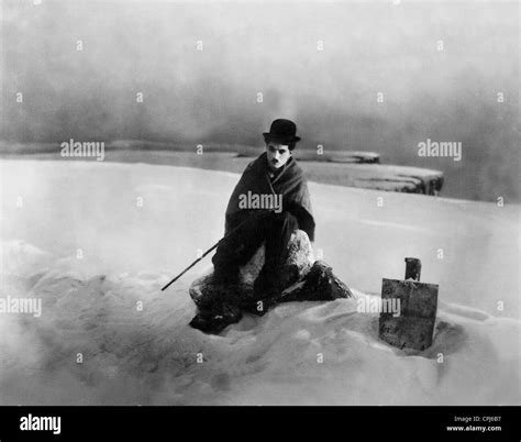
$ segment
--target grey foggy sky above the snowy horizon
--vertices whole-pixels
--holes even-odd
[[[289,118],[298,148],[378,152],[443,170],[444,196],[520,200],[517,2],[1,4],[3,141],[262,145]],[[426,139],[463,159],[419,157]]]

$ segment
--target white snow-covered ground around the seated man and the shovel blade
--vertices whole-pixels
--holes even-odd
[[[357,299],[282,305],[219,336],[188,327],[210,259],[160,287],[221,236],[235,174],[0,170],[0,298],[42,300],[40,317],[0,313],[1,405],[521,404],[519,206],[310,185],[315,255],[356,297],[402,278],[406,256],[440,285],[434,343],[406,353]]]

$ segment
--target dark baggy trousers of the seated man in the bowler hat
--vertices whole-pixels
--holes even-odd
[[[212,257],[215,277],[234,280],[239,275],[239,267],[247,264],[265,242],[265,264],[255,280],[254,290],[267,295],[276,288],[277,273],[287,257],[291,233],[297,229],[297,218],[290,212],[254,213],[239,230],[219,243]]]

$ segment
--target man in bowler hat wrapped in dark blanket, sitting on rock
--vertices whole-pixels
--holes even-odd
[[[202,291],[193,285],[190,289],[199,307],[190,322],[193,328],[220,332],[239,321],[242,310],[264,314],[280,301],[278,297],[285,289],[309,272],[312,262],[307,266],[288,265],[290,240],[292,248],[307,247],[312,256],[310,241],[314,241],[315,228],[308,185],[292,156],[300,141],[296,133],[292,121],[275,120],[264,133],[266,152],[248,164],[235,186],[226,208],[225,234],[212,258],[211,281],[204,283]],[[264,265],[252,292],[241,280],[240,268],[263,244]]]

